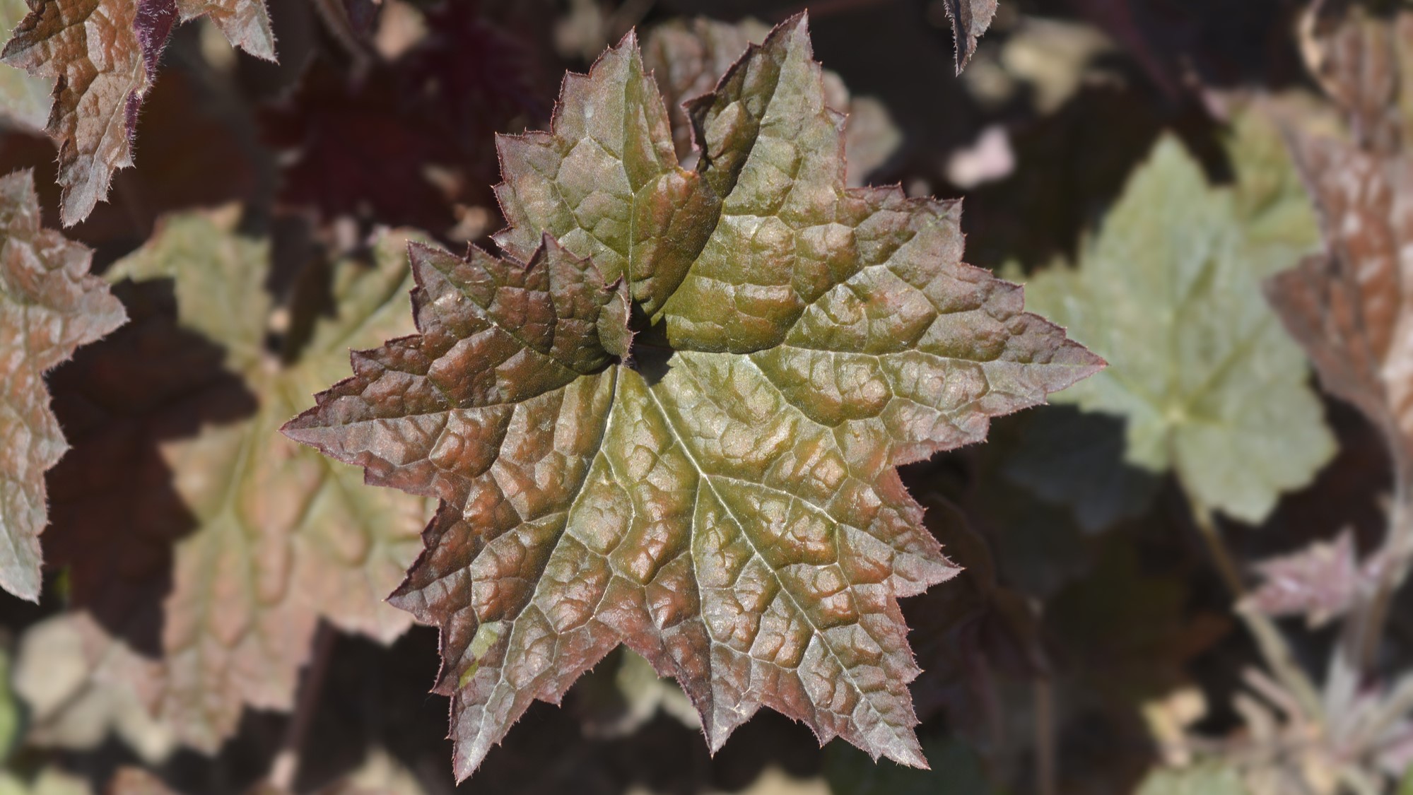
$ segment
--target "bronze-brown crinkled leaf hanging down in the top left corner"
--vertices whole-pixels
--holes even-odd
[[[133,165],[138,109],[167,37],[178,16],[199,14],[252,55],[274,58],[263,0],[31,0],[0,59],[55,79],[45,130],[59,145],[64,226],[88,217],[113,171]]]

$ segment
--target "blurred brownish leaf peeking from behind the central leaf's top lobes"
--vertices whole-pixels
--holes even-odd
[[[653,72],[663,93],[667,116],[673,123],[673,145],[685,168],[695,164],[692,124],[687,103],[714,88],[746,47],[764,41],[770,27],[746,18],[719,23],[708,18],[674,20],[656,25],[643,42],[643,66]],[[824,71],[825,102],[846,114],[844,160],[851,186],[863,185],[869,174],[883,165],[903,134],[893,126],[887,107],[873,97],[851,97],[838,75]]]

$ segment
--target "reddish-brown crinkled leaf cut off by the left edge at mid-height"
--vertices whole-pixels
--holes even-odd
[[[0,377],[4,486],[0,487],[0,587],[38,602],[40,532],[48,522],[44,473],[68,449],[44,373],[127,321],[97,277],[92,253],[40,227],[34,178],[0,178]]]

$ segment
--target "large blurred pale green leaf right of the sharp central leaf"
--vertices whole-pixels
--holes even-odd
[[[1081,267],[1027,287],[1033,306],[1112,363],[1060,400],[1123,415],[1129,462],[1176,469],[1197,500],[1249,522],[1334,453],[1304,357],[1260,294],[1260,278],[1299,250],[1269,232],[1287,229],[1279,195],[1212,188],[1164,138]]]

